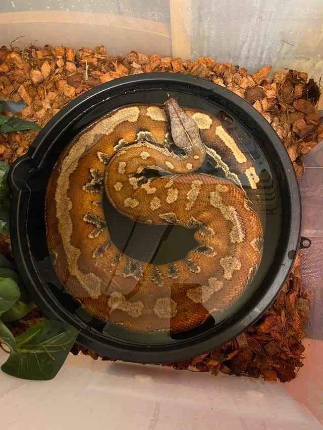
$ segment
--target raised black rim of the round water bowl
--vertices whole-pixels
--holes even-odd
[[[286,226],[286,231],[282,233],[287,236],[287,239],[283,243],[284,249],[280,250],[283,257],[280,261],[280,267],[277,267],[275,273],[272,274],[270,288],[267,288],[266,291],[262,291],[259,294],[258,292],[255,293],[255,295],[258,294],[258,299],[256,305],[253,306],[252,309],[249,309],[250,305],[248,306],[248,302],[247,305],[244,305],[237,311],[234,317],[227,320],[220,327],[219,325],[215,326],[217,330],[221,329],[219,333],[210,335],[209,331],[206,331],[198,337],[188,338],[186,341],[181,341],[181,343],[174,343],[167,346],[163,344],[136,345],[126,340],[116,338],[108,339],[106,336],[98,335],[89,328],[86,328],[86,325],[80,324],[75,316],[68,312],[64,306],[59,305],[57,300],[53,300],[54,296],[50,293],[49,288],[42,285],[37,275],[36,267],[33,264],[31,251],[28,245],[26,226],[28,200],[31,194],[31,190],[27,186],[26,181],[29,175],[39,166],[44,155],[41,153],[41,149],[43,152],[45,151],[44,142],[47,143],[49,136],[52,135],[55,130],[62,130],[62,124],[69,124],[72,118],[74,120],[76,117],[79,117],[80,108],[82,111],[81,114],[83,115],[86,110],[82,110],[82,107],[87,106],[89,110],[98,105],[98,102],[95,101],[96,99],[103,102],[106,98],[109,98],[109,92],[112,90],[121,92],[129,86],[148,84],[153,86],[161,84],[169,86],[179,85],[186,86],[190,88],[191,91],[207,91],[210,95],[217,96],[221,98],[222,101],[225,101],[231,106],[231,110],[236,109],[247,115],[248,118],[253,121],[254,125],[266,135],[279,155],[279,162],[283,168],[287,195],[289,197],[288,202],[285,203],[288,205],[287,210],[289,210],[290,219]],[[77,338],[79,344],[113,359],[141,363],[174,362],[201,355],[227,343],[252,325],[273,303],[290,273],[296,258],[297,250],[299,249],[301,227],[300,193],[296,174],[283,142],[267,120],[243,98],[211,81],[196,78],[191,75],[169,72],[130,75],[98,85],[76,97],[48,121],[30,146],[28,152],[14,162],[11,168],[9,181],[12,190],[10,229],[13,254],[19,273],[30,291],[32,298],[44,315],[50,318],[63,320],[77,327],[80,330]],[[261,288],[259,288],[259,290],[261,290]]]

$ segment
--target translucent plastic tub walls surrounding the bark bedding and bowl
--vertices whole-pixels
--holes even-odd
[[[2,0],[1,44],[103,44],[182,58],[216,57],[254,71],[323,73],[321,0]],[[304,286],[313,291],[304,367],[287,384],[70,356],[49,382],[0,375],[0,418],[11,430],[323,428],[323,144],[300,181]],[[0,363],[6,359],[0,352]]]

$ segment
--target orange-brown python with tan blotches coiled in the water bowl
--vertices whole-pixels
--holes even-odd
[[[194,172],[205,157],[226,178]],[[148,178],[153,170],[163,175]],[[139,332],[197,327],[241,296],[262,257],[262,227],[243,177],[257,189],[239,142],[216,117],[183,110],[174,99],[97,119],[67,146],[48,182],[56,273],[101,320]],[[103,193],[133,220],[195,228],[197,246],[170,264],[128,257],[111,239]]]

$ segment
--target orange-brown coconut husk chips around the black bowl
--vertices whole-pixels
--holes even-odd
[[[191,59],[147,55],[131,51],[125,57],[110,56],[103,46],[74,49],[65,46],[23,49],[0,48],[0,100],[23,101],[19,113],[6,112],[45,126],[72,99],[104,82],[149,72],[176,72],[210,80],[243,97],[272,125],[283,141],[297,177],[303,172],[303,156],[323,139],[322,117],[317,109],[317,83],[304,72],[272,71],[267,65],[254,74],[212,57]],[[37,130],[0,135],[0,159],[12,163],[28,150]],[[0,237],[0,253],[12,258],[10,240]],[[248,375],[266,381],[287,382],[295,378],[306,354],[303,339],[309,291],[302,287],[297,256],[292,272],[275,303],[236,339],[207,354],[177,363],[179,370]],[[42,319],[34,309],[13,324],[19,334]],[[74,354],[102,357],[78,344]]]

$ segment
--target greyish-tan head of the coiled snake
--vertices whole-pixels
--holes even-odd
[[[196,122],[191,118],[174,98],[165,103],[166,115],[171,125],[174,144],[186,154],[192,151],[205,152]]]

